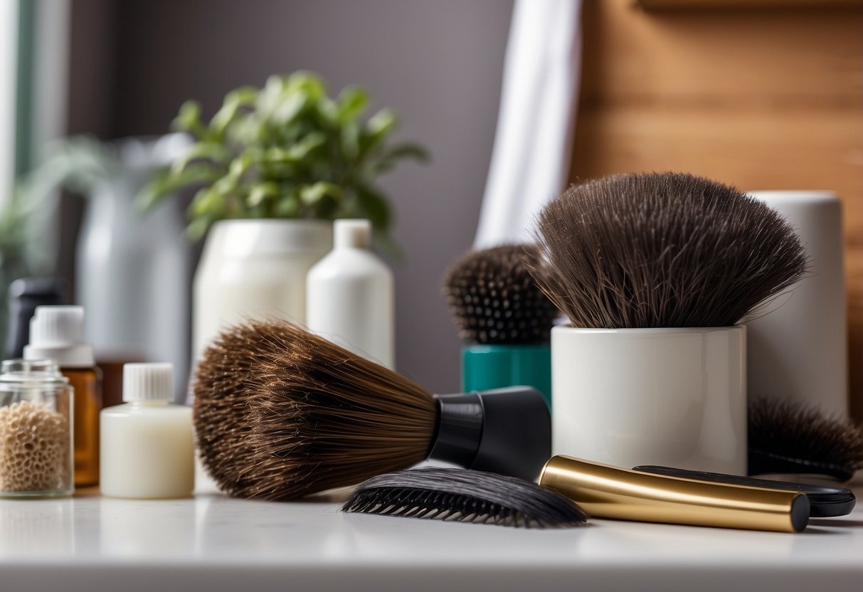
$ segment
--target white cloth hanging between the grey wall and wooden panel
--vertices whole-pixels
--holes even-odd
[[[476,249],[529,238],[566,186],[581,77],[581,0],[515,0]]]

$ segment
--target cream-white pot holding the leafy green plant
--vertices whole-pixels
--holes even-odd
[[[321,220],[223,220],[213,225],[195,273],[195,359],[230,324],[248,318],[305,323],[306,274],[332,247]]]

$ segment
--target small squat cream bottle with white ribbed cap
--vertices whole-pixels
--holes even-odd
[[[195,485],[192,408],[174,405],[173,365],[123,365],[123,405],[101,414],[102,494],[177,498]]]

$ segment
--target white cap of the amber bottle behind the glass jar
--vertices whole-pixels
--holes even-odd
[[[24,346],[28,360],[51,358],[61,367],[89,368],[93,349],[84,343],[82,306],[36,306],[30,319],[30,343]]]

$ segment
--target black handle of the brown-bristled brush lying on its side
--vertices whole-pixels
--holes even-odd
[[[533,387],[435,395],[438,429],[429,458],[536,480],[551,457],[551,414]]]

